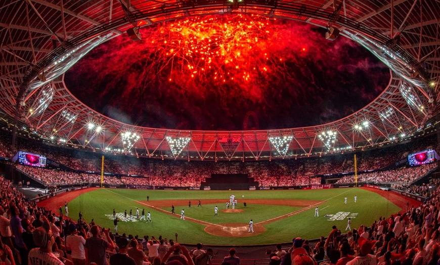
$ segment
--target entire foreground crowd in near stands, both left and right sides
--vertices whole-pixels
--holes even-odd
[[[3,253],[0,261],[5,264],[27,264],[27,260],[34,262],[34,259],[51,259],[51,264],[60,265],[73,264],[74,259],[84,260],[84,264],[91,261],[99,264],[100,251],[109,253],[102,255],[102,258],[106,258],[111,265],[155,265],[171,260],[179,260],[182,265],[212,264],[212,249],[204,251],[197,247],[191,251],[161,237],[150,239],[144,236],[142,240],[138,236],[119,235],[94,222],[87,223],[85,218],[73,222],[62,213],[54,213],[30,202],[3,177],[0,178],[0,185]],[[419,188],[423,191],[427,187],[422,185]],[[420,206],[408,206],[403,213],[396,215],[378,216],[369,228],[361,225],[359,229],[350,228],[345,234],[333,226],[328,237],[322,237],[315,245],[301,238],[294,238],[292,247],[287,251],[277,245],[269,263],[316,265],[325,261],[336,265],[359,265],[368,260],[369,265],[436,265],[440,259],[439,209],[440,188],[436,188]],[[68,236],[69,240],[66,240]],[[83,247],[75,247],[76,242],[82,242]],[[98,245],[103,249],[100,250]],[[39,253],[38,257],[36,252]],[[235,254],[235,249],[231,249],[224,262],[239,262]],[[57,263],[54,258],[60,262]],[[200,263],[202,258],[208,260]]]

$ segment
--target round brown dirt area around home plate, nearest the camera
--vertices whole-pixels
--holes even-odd
[[[264,233],[266,229],[262,226],[254,224],[253,225],[254,233],[252,232],[249,233],[248,231],[249,231],[249,224],[242,224],[242,223],[230,223],[230,224],[218,224],[218,225],[212,224],[205,227],[206,233],[221,237],[250,237]]]

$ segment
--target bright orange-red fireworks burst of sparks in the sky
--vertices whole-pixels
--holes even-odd
[[[273,68],[284,68],[283,58],[268,45],[280,41],[278,27],[271,28],[274,20],[242,14],[192,17],[145,30],[143,38],[154,50],[150,65],[168,81],[255,82]]]

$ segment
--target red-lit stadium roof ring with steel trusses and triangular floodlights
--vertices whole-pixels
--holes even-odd
[[[303,21],[329,33],[337,29],[389,66],[389,84],[373,102],[340,120],[255,131],[124,124],[85,106],[65,87],[65,71],[134,26],[231,13]],[[2,1],[0,109],[8,122],[17,117],[30,133],[54,142],[151,157],[255,160],[380,146],[429,126],[437,114],[439,24],[438,0]]]

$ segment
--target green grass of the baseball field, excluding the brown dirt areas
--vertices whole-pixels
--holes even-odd
[[[218,217],[214,217],[214,204],[204,204],[206,199],[229,200],[229,196],[235,194],[238,200],[238,209],[243,212],[225,213],[218,212]],[[278,217],[296,210],[298,207],[276,205],[277,200],[321,200],[319,206],[320,217],[314,217],[315,206],[299,212],[292,216],[266,224],[266,232],[250,237],[219,237],[204,232],[204,225],[197,224],[188,220],[181,220],[178,215],[170,215],[154,208],[146,207],[136,201],[146,201],[147,195],[150,201],[169,200],[169,207],[164,210],[171,211],[171,204],[175,200],[191,200],[192,207],[175,206],[175,212],[180,214],[182,208],[185,209],[185,216],[203,220],[212,224],[224,223],[243,223],[248,224],[253,219],[254,224],[264,220]],[[241,196],[244,195],[244,200]],[[357,203],[354,196],[358,196]],[[347,204],[344,204],[344,197],[347,196]],[[203,207],[197,207],[198,200],[201,200]],[[248,204],[243,207],[243,202],[251,199],[265,199],[273,202],[274,205]],[[219,210],[225,209],[225,204],[217,205]],[[113,230],[113,220],[107,215],[116,212],[123,212],[133,209],[136,216],[136,207],[145,208],[146,213],[151,212],[153,223],[145,222],[119,222],[118,232],[149,236],[162,235],[166,238],[174,238],[175,233],[179,233],[179,241],[183,243],[198,243],[210,245],[255,245],[273,244],[278,242],[291,242],[292,238],[302,237],[307,239],[327,236],[333,225],[342,231],[346,228],[347,218],[353,216],[351,228],[359,228],[360,225],[370,226],[379,216],[389,216],[397,213],[401,209],[388,201],[386,198],[369,191],[359,188],[328,189],[328,190],[285,190],[285,191],[162,191],[162,190],[128,190],[128,189],[98,189],[89,193],[82,194],[69,202],[70,216],[77,216],[81,210],[83,216],[90,222],[92,218],[101,226]],[[336,214],[346,212],[349,214],[341,220],[330,220],[326,214]]]

